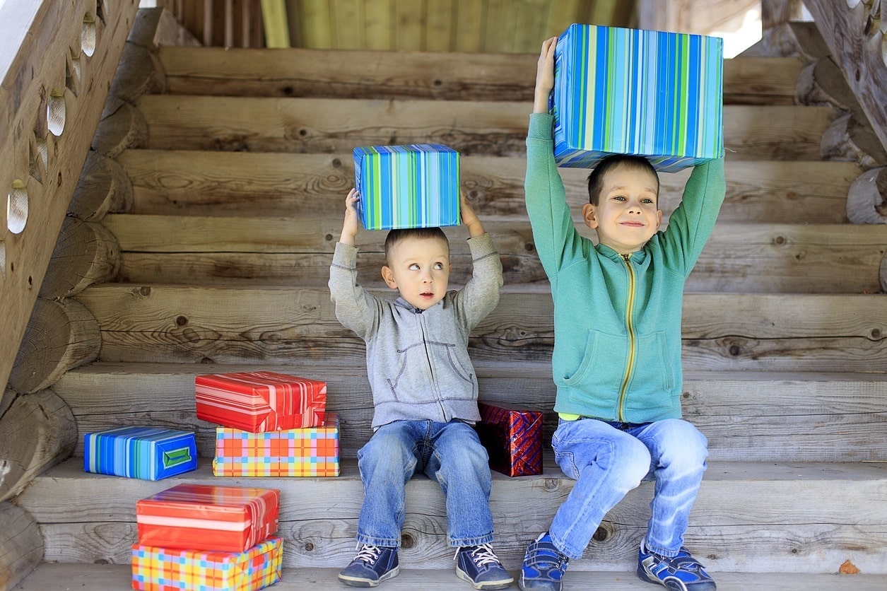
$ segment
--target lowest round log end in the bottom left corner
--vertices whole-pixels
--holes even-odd
[[[13,589],[43,562],[43,536],[34,517],[0,503],[0,589]]]

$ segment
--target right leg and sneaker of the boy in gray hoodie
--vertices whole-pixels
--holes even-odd
[[[425,473],[446,499],[447,537],[456,551],[456,575],[475,589],[504,589],[514,578],[491,548],[492,478],[487,451],[464,422],[434,423]]]

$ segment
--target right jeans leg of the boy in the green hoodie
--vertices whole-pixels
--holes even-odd
[[[647,548],[676,556],[684,545],[690,509],[703,482],[708,440],[693,424],[680,419],[651,422],[632,434],[649,449],[655,476]]]

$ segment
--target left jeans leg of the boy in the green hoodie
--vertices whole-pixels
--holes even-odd
[[[650,454],[640,441],[603,421],[561,421],[552,437],[554,459],[576,485],[554,514],[554,545],[579,558],[607,512],[640,485]]]

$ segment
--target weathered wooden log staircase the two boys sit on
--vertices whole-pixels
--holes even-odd
[[[551,437],[552,306],[522,189],[535,56],[145,38],[118,70],[120,102],[82,178],[82,200],[114,202],[91,242],[119,256],[113,279],[71,298],[97,322],[101,348],[52,386],[78,443],[12,499],[43,536],[43,563],[12,588],[128,588],[136,500],[178,482],[281,489],[276,588],[338,587],[372,417],[363,343],[336,321],[326,289],[352,147],[439,142],[462,154],[463,185],[505,269],[501,303],[471,341],[482,398],[546,411]],[[803,67],[726,61],[726,203],[687,284],[683,406],[710,439],[687,547],[726,591],[887,587],[887,225],[848,221],[863,170],[821,159],[840,113],[795,104]],[[561,174],[578,213],[584,173]],[[686,178],[663,175],[666,218]],[[460,284],[466,232],[447,233]],[[358,235],[360,279],[380,293],[383,240]],[[195,417],[194,376],[258,369],[328,382],[341,477],[213,477],[215,427]],[[195,430],[200,468],[160,482],[84,473],[82,434],[130,424]],[[540,477],[494,473],[506,567],[517,571],[571,486],[551,461]],[[633,571],[651,495],[642,484],[607,516],[567,589],[644,587]],[[385,588],[468,588],[452,573],[443,496],[423,477],[408,486],[403,543],[402,574]]]

